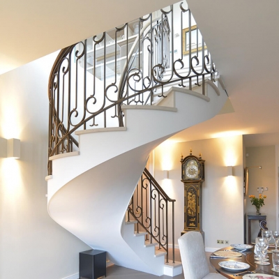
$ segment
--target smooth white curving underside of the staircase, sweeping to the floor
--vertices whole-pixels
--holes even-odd
[[[50,199],[50,216],[93,249],[107,251],[114,264],[163,275],[164,257],[146,251],[153,266],[146,264],[123,239],[121,225],[149,153],[165,139],[116,156],[68,182]],[[144,239],[135,241],[144,246]]]

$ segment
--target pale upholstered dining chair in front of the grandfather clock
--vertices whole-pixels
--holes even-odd
[[[178,241],[185,279],[225,278],[219,273],[209,273],[204,241],[200,232],[186,232]]]

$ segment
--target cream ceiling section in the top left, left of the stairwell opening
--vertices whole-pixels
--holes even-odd
[[[176,0],[0,0],[0,75]]]

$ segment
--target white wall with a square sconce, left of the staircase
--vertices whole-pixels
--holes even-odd
[[[0,278],[66,278],[89,249],[47,213],[47,82],[55,58],[0,76],[0,137],[21,140],[20,160],[0,158]]]

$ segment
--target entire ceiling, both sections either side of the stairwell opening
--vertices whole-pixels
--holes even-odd
[[[174,2],[0,0],[0,74]],[[188,4],[235,112],[188,128],[172,140],[250,134],[247,146],[279,144],[279,1]]]

